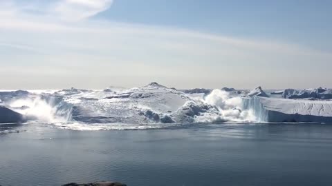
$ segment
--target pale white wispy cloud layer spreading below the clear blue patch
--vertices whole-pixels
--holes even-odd
[[[26,85],[20,79],[61,85],[64,76],[63,85],[93,88],[147,81],[175,87],[250,88],[271,82],[299,87],[308,73],[313,86],[329,85],[322,71],[332,68],[332,55],[302,45],[89,19],[107,10],[110,0],[29,2],[0,1],[0,84],[8,88]],[[25,69],[33,77],[21,73]],[[66,73],[58,73],[62,69]],[[10,74],[12,81],[4,81]]]

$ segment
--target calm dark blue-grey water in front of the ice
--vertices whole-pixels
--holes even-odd
[[[0,185],[332,185],[332,125],[75,131],[0,125]]]

